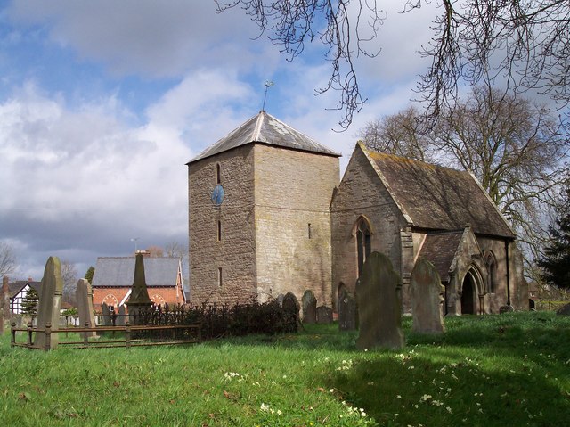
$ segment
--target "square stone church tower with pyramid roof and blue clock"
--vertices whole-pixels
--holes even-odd
[[[338,157],[260,111],[188,162],[191,302],[310,289],[330,306]]]

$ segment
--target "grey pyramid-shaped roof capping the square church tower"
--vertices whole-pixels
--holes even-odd
[[[187,164],[251,143],[269,144],[291,150],[318,152],[340,157],[338,152],[333,152],[324,145],[317,143],[293,127],[289,127],[281,120],[275,119],[271,114],[259,111],[259,114],[232,130],[228,135],[217,141],[216,144],[210,145]]]

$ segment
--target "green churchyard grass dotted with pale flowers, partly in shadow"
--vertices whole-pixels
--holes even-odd
[[[2,426],[550,426],[570,420],[570,317],[446,318],[443,335],[355,349],[356,333],[183,347],[11,349],[0,337]]]

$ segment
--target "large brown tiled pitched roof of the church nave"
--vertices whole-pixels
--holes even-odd
[[[372,152],[359,143],[412,226],[433,230],[462,230],[515,238],[501,213],[466,171],[419,160]]]

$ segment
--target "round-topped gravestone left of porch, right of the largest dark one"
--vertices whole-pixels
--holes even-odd
[[[419,258],[411,270],[412,330],[416,333],[443,333],[444,292],[436,267]]]

